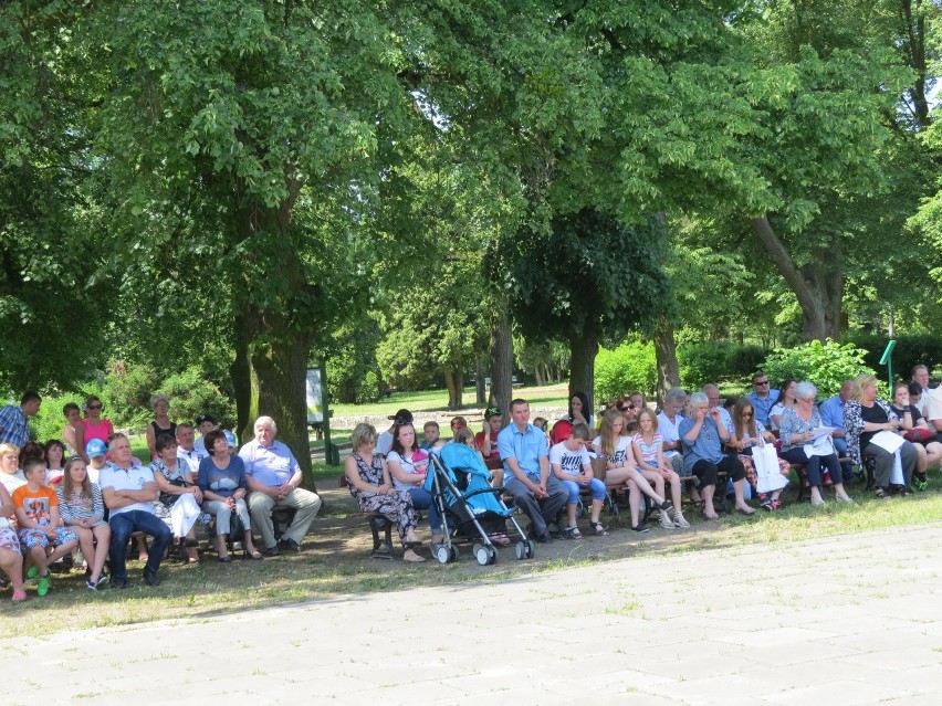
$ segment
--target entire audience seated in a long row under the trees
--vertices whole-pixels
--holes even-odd
[[[781,506],[795,468],[813,506],[825,505],[828,491],[835,502],[852,503],[845,484],[865,471],[877,498],[906,496],[925,489],[928,471],[942,462],[942,387],[930,388],[928,381],[928,369],[918,366],[910,381],[894,384],[889,399],[882,399],[876,378],[861,375],[820,400],[810,382],[784,380],[775,390],[760,371],[750,394],[725,404],[719,387],[706,384],[692,393],[668,390],[657,413],[635,392],[599,408],[597,415],[587,396],[576,392],[554,424],[543,418],[531,422],[526,401],[514,400],[507,425],[501,423],[501,410],[491,407],[477,434],[463,417],[453,418],[451,440],[440,436],[433,421],[418,439],[411,413],[399,410],[383,434],[369,425],[357,428],[346,476],[365,512],[386,514],[399,528],[411,562],[423,561],[417,552],[417,510],[428,516],[432,546],[448,531],[423,483],[429,455],[448,443],[478,452],[492,485],[528,516],[537,541],[552,541],[554,525],[564,538],[607,536],[606,502],[625,502],[636,531],[648,531],[641,518],[645,503],[662,528],[689,528],[681,512],[684,492],[708,520],[719,517],[715,503],[725,496],[734,498],[739,513],[752,515],[750,500],[758,495],[758,506],[771,512]],[[0,571],[13,600],[25,600],[33,586],[45,596],[50,567],[73,555],[87,590],[98,590],[108,579],[126,588],[132,535],[139,536],[148,586],[160,583],[168,546],[178,548],[184,562],[199,560],[195,529],[209,523],[216,526],[222,563],[232,560],[230,547],[248,559],[301,550],[321,498],[301,487],[300,465],[275,440],[274,420],[260,418],[254,438],[237,453],[234,435],[217,430],[210,415],[195,424],[175,423],[167,398],[151,402],[149,465],[133,455],[124,434],[114,432],[97,398],[82,408],[66,404],[64,441],[46,443],[29,439],[28,419],[41,404],[38,394],[28,392],[19,405],[0,408]],[[195,428],[202,431],[199,440]],[[199,443],[203,440],[209,443]],[[784,478],[771,489],[757,482],[756,468],[768,468],[768,449],[775,450],[773,463]],[[580,503],[587,508],[587,533],[577,525]],[[293,518],[276,535],[272,514],[280,509],[291,509]],[[254,536],[261,538],[261,550]]]

